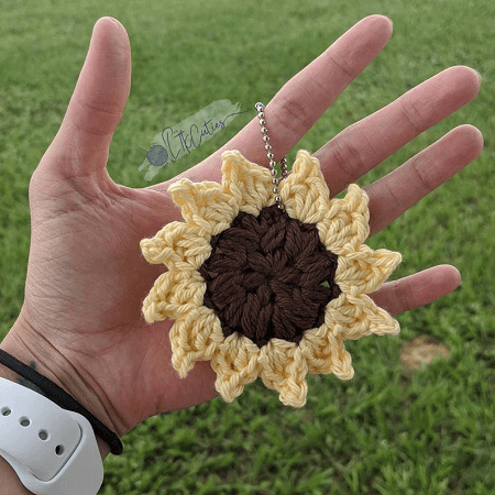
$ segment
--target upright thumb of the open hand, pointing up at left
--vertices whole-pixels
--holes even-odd
[[[125,29],[112,18],[101,18],[92,30],[61,129],[38,168],[64,177],[105,168],[130,88],[131,48]]]

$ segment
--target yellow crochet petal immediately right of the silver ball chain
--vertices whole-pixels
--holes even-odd
[[[307,151],[297,152],[289,176],[279,186],[287,213],[302,223],[317,223],[328,211],[330,193],[320,163]]]

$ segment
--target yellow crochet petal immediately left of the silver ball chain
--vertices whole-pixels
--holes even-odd
[[[222,188],[241,211],[257,217],[273,196],[272,175],[238,151],[227,151],[222,153]]]

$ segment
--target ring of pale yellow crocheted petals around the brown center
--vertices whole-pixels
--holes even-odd
[[[380,288],[402,257],[363,244],[370,234],[364,190],[351,185],[344,198],[330,199],[318,160],[299,151],[292,173],[279,185],[279,196],[288,216],[316,223],[322,244],[338,255],[334,282],[341,294],[327,305],[324,323],[307,330],[298,344],[273,338],[260,349],[238,332],[226,338],[217,315],[204,306],[207,286],[198,268],[211,255],[211,237],[228,229],[240,211],[257,217],[262,208],[275,204],[272,187],[270,172],[238,151],[222,154],[221,185],[185,178],[173,184],[168,194],[180,207],[184,222],[168,223],[141,241],[144,257],[168,268],[144,299],[143,315],[147,322],[175,320],[169,334],[172,362],[180,377],[196,361],[209,360],[217,373],[216,388],[226,402],[260,376],[279,393],[283,404],[302,407],[307,373],[353,377],[344,340],[399,332],[398,322],[367,294]]]

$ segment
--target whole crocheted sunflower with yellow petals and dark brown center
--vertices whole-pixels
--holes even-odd
[[[330,199],[319,162],[299,151],[273,198],[268,169],[222,154],[222,182],[183,178],[167,190],[184,222],[141,241],[168,271],[143,302],[147,322],[174,319],[173,366],[185,378],[209,360],[228,403],[258,376],[284,405],[302,407],[306,375],[354,375],[343,342],[397,334],[398,322],[367,294],[400,263],[373,251],[369,198],[356,185]]]

